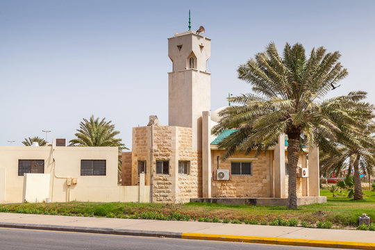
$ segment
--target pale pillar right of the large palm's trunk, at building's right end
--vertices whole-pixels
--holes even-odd
[[[308,192],[309,196],[319,196],[319,148],[315,147],[308,153]]]

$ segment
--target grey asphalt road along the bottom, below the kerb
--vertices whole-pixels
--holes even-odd
[[[183,240],[94,233],[71,233],[58,231],[38,231],[28,229],[0,228],[1,250],[42,250],[42,249],[305,249],[327,250],[317,247],[293,247],[272,244],[251,244],[240,242],[216,242],[209,240]]]

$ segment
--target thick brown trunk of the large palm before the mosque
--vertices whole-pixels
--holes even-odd
[[[297,209],[297,163],[299,158],[299,133],[288,133],[288,209]]]

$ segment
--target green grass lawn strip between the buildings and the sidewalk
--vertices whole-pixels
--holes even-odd
[[[107,216],[131,218],[156,218],[163,215],[163,219],[195,219],[203,221],[207,218],[219,219],[256,219],[259,222],[272,222],[276,217],[284,219],[298,219],[300,222],[314,225],[317,221],[333,222],[335,227],[358,226],[358,217],[363,213],[375,218],[375,192],[363,190],[364,200],[353,201],[346,197],[346,193],[332,197],[328,190],[321,190],[321,195],[327,197],[327,203],[299,206],[298,210],[288,210],[286,207],[275,206],[228,206],[215,203],[185,203],[183,205],[156,203],[17,203],[0,205],[0,212],[10,213],[44,213],[51,215],[78,216]],[[179,214],[183,217],[179,217]],[[170,217],[176,215],[177,217]],[[169,216],[169,217],[167,217]],[[158,217],[159,218],[159,217]],[[200,218],[200,219],[199,219]],[[208,219],[210,218],[210,219]]]

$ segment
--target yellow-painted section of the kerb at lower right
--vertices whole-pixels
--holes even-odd
[[[221,240],[230,242],[251,242],[261,244],[283,244],[303,247],[331,247],[340,249],[375,249],[371,242],[344,242],[338,240],[306,240],[276,237],[254,237],[240,235],[217,235],[207,233],[182,233],[183,239],[192,240]]]

